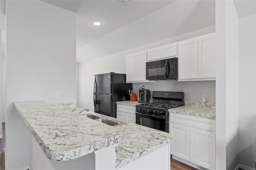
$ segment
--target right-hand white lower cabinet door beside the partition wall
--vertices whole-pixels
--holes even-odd
[[[215,133],[190,128],[190,162],[215,169]]]

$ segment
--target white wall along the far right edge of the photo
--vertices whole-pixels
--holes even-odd
[[[256,157],[256,15],[239,19],[239,163]]]

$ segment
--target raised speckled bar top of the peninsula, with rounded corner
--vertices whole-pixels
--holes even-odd
[[[120,141],[118,129],[70,114],[70,109],[42,101],[14,102],[14,106],[50,160],[75,159]]]

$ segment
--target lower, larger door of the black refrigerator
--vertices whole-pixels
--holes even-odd
[[[94,112],[102,115],[112,116],[112,95],[96,94],[94,95]]]

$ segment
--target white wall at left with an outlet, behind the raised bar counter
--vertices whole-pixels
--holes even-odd
[[[39,0],[6,1],[7,169],[30,164],[30,132],[13,102],[76,102],[76,14]],[[55,99],[60,92],[60,99]]]

